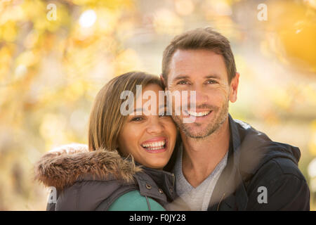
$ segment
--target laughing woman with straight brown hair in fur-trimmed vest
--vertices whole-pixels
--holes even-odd
[[[128,115],[122,113],[127,109],[124,91],[130,91],[129,103],[134,103]],[[144,72],[115,77],[99,91],[90,115],[88,151],[53,151],[37,162],[35,178],[57,189],[57,203],[48,203],[47,210],[180,209],[173,202],[174,176],[162,170],[177,130],[166,106],[159,105],[159,91],[159,77]],[[139,112],[136,106],[148,103],[145,93],[154,93],[156,101]]]

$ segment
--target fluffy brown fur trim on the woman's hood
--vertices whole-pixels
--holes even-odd
[[[85,176],[106,180],[110,176],[130,183],[140,172],[132,160],[123,159],[117,150],[95,150],[88,153],[48,152],[34,167],[34,179],[44,186],[62,190]],[[91,180],[91,179],[90,179]]]

